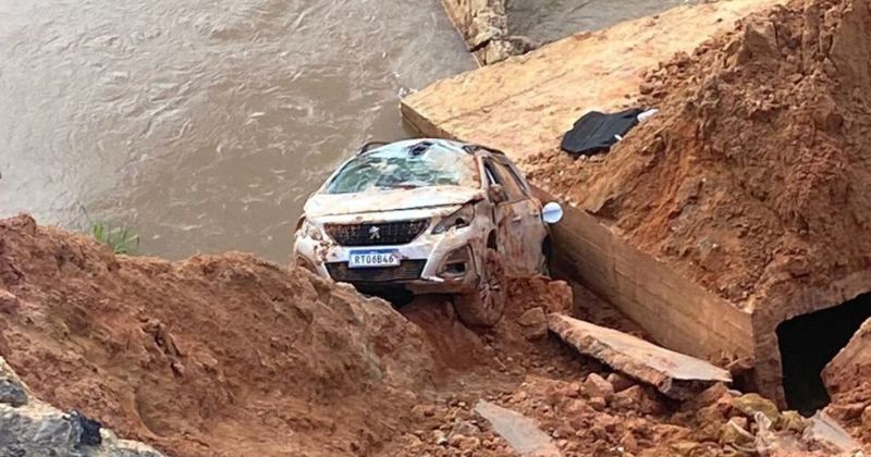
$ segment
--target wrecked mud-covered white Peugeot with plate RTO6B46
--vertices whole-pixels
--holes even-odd
[[[506,275],[547,273],[548,223],[562,213],[498,150],[368,144],[306,202],[294,260],[365,293],[451,294],[464,323],[491,326]]]

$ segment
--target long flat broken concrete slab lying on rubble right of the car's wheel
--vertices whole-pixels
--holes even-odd
[[[732,375],[726,370],[704,360],[613,329],[559,313],[549,316],[548,325],[581,354],[651,384],[672,398],[689,399],[716,382],[732,382]]]

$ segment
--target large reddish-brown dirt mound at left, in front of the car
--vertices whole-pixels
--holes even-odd
[[[115,257],[29,217],[0,221],[0,355],[46,402],[185,456],[366,453],[432,369],[417,326],[348,286]]]

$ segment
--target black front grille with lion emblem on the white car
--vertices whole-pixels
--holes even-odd
[[[412,243],[429,226],[429,220],[378,224],[327,224],[324,228],[341,246],[387,246]]]

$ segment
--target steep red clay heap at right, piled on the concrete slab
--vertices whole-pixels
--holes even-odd
[[[660,113],[531,178],[751,309],[871,269],[871,1],[796,0],[647,76]]]

